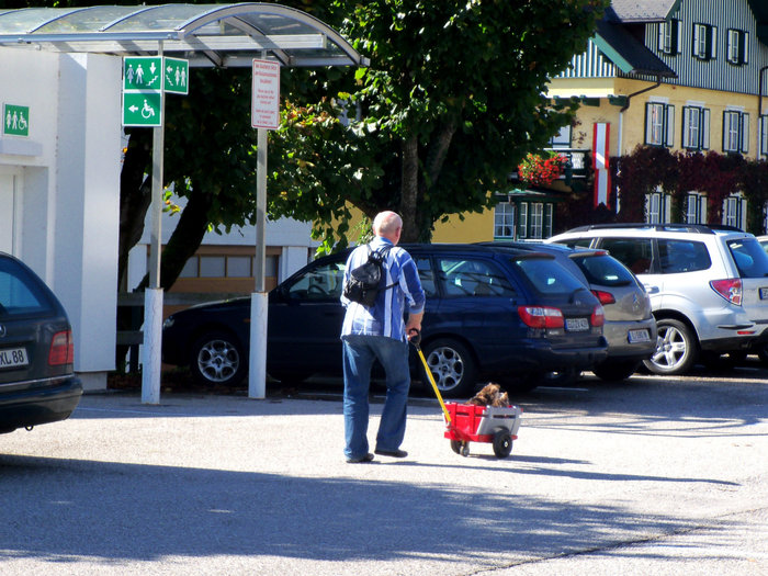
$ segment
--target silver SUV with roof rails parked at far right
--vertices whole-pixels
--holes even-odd
[[[547,242],[608,250],[645,286],[656,352],[645,366],[682,374],[702,360],[741,359],[768,340],[768,255],[732,227],[610,224],[574,228]]]

